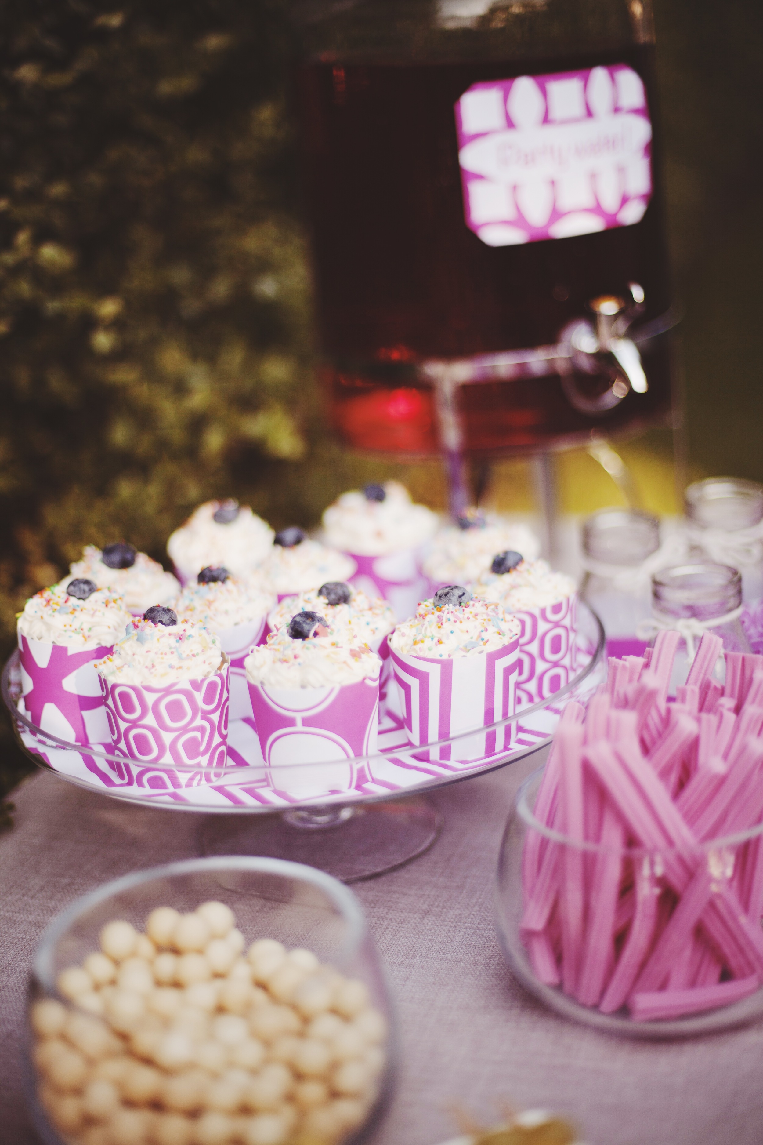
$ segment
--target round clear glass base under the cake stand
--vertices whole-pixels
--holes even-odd
[[[269,855],[327,871],[343,883],[373,878],[429,851],[443,816],[429,799],[312,807],[279,815],[209,815],[202,855]]]

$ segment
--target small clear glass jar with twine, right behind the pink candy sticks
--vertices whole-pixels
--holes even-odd
[[[652,576],[654,633],[660,629],[677,629],[682,634],[670,677],[671,693],[686,682],[697,645],[705,632],[721,637],[724,652],[752,652],[740,615],[741,575],[729,564],[674,564]],[[655,634],[650,641],[652,645]],[[720,658],[715,674],[721,682],[723,671]]]

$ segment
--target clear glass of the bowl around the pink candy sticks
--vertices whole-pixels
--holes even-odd
[[[523,868],[527,861],[528,846],[530,848],[555,848],[557,861],[562,863],[563,870],[569,869],[567,863],[572,862],[573,866],[583,871],[586,889],[591,885],[591,871],[596,863],[619,864],[621,882],[619,883],[620,897],[615,911],[619,958],[622,957],[623,943],[629,937],[630,918],[633,917],[633,907],[629,908],[628,902],[625,901],[623,889],[627,889],[630,879],[637,884],[639,892],[644,892],[645,899],[653,893],[659,893],[665,885],[661,882],[661,875],[677,854],[667,847],[657,852],[643,847],[614,850],[599,844],[580,843],[546,827],[533,814],[542,775],[543,768],[541,767],[525,780],[517,792],[501,843],[495,882],[495,913],[501,946],[514,974],[522,985],[547,1006],[565,1018],[572,1018],[574,1021],[583,1022],[596,1029],[628,1037],[651,1040],[686,1037],[728,1029],[763,1016],[763,988],[760,985],[758,988],[753,988],[752,993],[739,1001],[716,1009],[666,1020],[658,1018],[636,1020],[630,1016],[625,1004],[614,1012],[603,1012],[602,1009],[597,1009],[596,1004],[585,1005],[570,994],[565,994],[561,985],[548,985],[547,981],[541,980],[540,971],[537,972],[533,965],[522,931],[525,909]],[[713,895],[722,890],[718,884],[725,879],[733,879],[734,872],[744,871],[745,863],[748,863],[748,870],[752,869],[753,863],[760,863],[758,850],[763,845],[762,839],[763,824],[757,824],[748,831],[702,843],[698,845],[696,851],[683,851],[681,854],[684,859],[688,858],[698,870],[705,869],[712,879],[717,879],[716,884],[710,882],[710,894]],[[583,901],[582,911],[580,909],[574,911],[574,919],[581,927],[583,943],[588,940],[590,930],[590,899],[587,902]],[[572,917],[572,913],[569,917]],[[694,941],[701,941],[701,939],[694,939]],[[558,950],[555,953],[558,955]],[[681,955],[683,955],[683,949]],[[611,968],[607,968],[604,976],[605,989],[599,997],[599,1005],[606,1006],[617,1000],[617,993],[613,993],[610,995],[609,1002],[605,1001],[606,987],[611,981],[610,974]],[[546,972],[545,977],[551,976]]]

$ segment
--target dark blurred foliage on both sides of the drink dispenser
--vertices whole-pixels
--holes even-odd
[[[693,459],[763,477],[763,6],[655,7]],[[215,495],[312,524],[386,472],[320,420],[287,56],[285,0],[0,0],[3,660],[84,543],[161,559]]]

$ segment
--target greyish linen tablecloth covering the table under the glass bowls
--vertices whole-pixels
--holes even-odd
[[[386,966],[403,1061],[374,1145],[437,1145],[460,1104],[490,1122],[501,1103],[569,1114],[590,1145],[763,1140],[763,1025],[692,1042],[615,1040],[547,1012],[514,980],[495,938],[492,884],[524,760],[445,788],[439,842],[353,890]],[[48,921],[97,884],[197,853],[200,816],[129,807],[38,775],[0,837],[0,1140],[35,1140],[21,1091],[26,976]]]

